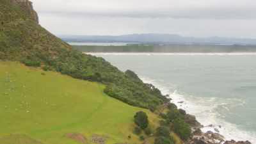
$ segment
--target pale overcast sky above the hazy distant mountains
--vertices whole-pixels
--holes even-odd
[[[31,0],[56,35],[171,33],[256,38],[255,0]]]

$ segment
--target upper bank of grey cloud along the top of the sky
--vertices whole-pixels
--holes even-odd
[[[253,0],[33,0],[39,13],[65,16],[256,19]]]

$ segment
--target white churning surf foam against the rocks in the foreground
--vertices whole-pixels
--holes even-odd
[[[249,140],[252,144],[256,144],[256,132],[248,132],[241,130],[235,124],[231,124],[229,122],[225,122],[225,120],[220,118],[220,114],[216,111],[218,106],[222,106],[227,111],[229,110],[226,107],[228,102],[233,102],[234,104],[244,104],[243,100],[239,99],[228,99],[223,100],[217,97],[205,98],[205,97],[193,97],[186,95],[181,95],[177,90],[172,92],[173,88],[168,88],[166,84],[161,83],[161,81],[155,81],[153,79],[149,79],[147,77],[141,77],[141,79],[145,83],[154,84],[163,95],[170,95],[172,98],[172,102],[175,103],[178,108],[184,109],[187,113],[191,115],[195,115],[196,119],[204,126],[202,128],[203,132],[214,131],[214,128],[217,128],[220,131],[220,134],[225,136],[226,140]],[[172,86],[170,86],[172,87]],[[223,102],[224,101],[224,102]],[[182,102],[182,103],[180,103]],[[212,125],[211,127],[207,127],[207,125]]]

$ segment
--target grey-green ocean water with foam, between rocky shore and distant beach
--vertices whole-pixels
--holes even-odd
[[[227,140],[256,144],[255,53],[94,55],[120,70],[133,70],[201,124],[217,127]],[[202,130],[214,131],[214,127]]]

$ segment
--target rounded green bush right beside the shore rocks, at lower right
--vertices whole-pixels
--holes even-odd
[[[177,118],[173,121],[173,131],[177,133],[182,140],[188,140],[191,135],[191,128],[183,119]]]

